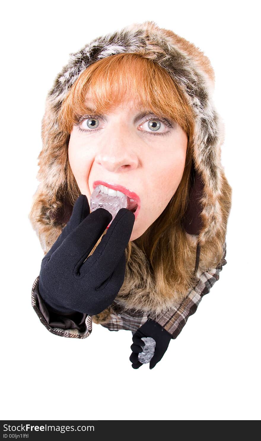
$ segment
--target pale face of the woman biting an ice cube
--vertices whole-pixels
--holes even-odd
[[[86,105],[93,108],[90,100]],[[164,211],[186,160],[183,129],[142,110],[134,101],[125,101],[102,117],[85,115],[71,131],[68,150],[71,170],[89,204],[93,183],[100,180],[138,195],[130,240],[140,237]]]

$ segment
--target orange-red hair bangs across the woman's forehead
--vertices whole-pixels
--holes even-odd
[[[71,133],[80,116],[107,114],[128,101],[174,120],[191,136],[193,113],[179,86],[163,67],[133,53],[98,60],[79,75],[60,109],[61,130]]]

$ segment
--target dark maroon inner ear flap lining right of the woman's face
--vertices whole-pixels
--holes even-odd
[[[194,167],[194,161],[191,167],[191,182],[189,202],[183,216],[183,227],[188,234],[198,235],[203,227],[201,198],[204,194],[204,184],[201,175]]]

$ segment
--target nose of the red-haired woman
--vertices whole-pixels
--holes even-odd
[[[136,140],[137,142],[137,140]],[[123,127],[108,131],[98,148],[95,162],[109,172],[132,170],[138,167],[138,157],[134,149],[134,140]]]

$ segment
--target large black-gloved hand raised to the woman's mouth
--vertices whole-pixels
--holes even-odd
[[[111,220],[111,213],[104,208],[90,213],[85,194],[76,200],[70,220],[41,263],[39,293],[53,310],[95,315],[115,299],[125,277],[125,248],[134,213],[119,209],[101,243],[87,258]]]

